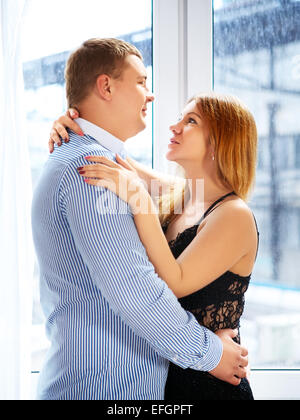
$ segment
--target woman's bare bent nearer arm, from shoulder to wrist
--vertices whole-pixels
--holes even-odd
[[[148,197],[151,212],[136,212],[135,225],[157,274],[178,298],[207,286],[249,252],[249,232],[253,230],[249,210],[224,203],[175,259],[151,201]]]

